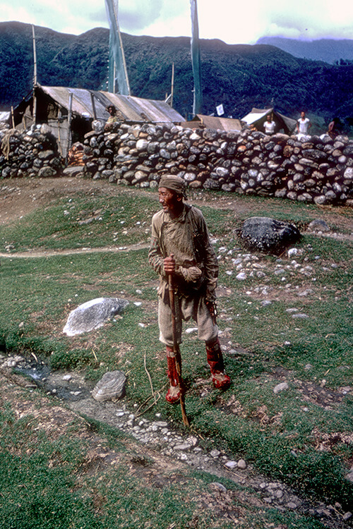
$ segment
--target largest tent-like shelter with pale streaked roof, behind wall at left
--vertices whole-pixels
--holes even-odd
[[[111,94],[83,88],[37,85],[13,109],[15,127],[28,129],[32,124],[47,123],[55,136],[59,150],[66,156],[68,145],[82,141],[92,130],[95,119],[107,121],[109,104],[116,107],[116,116],[123,123],[180,123],[183,116],[164,101]],[[35,116],[33,115],[35,114]],[[71,135],[70,135],[71,132]]]

